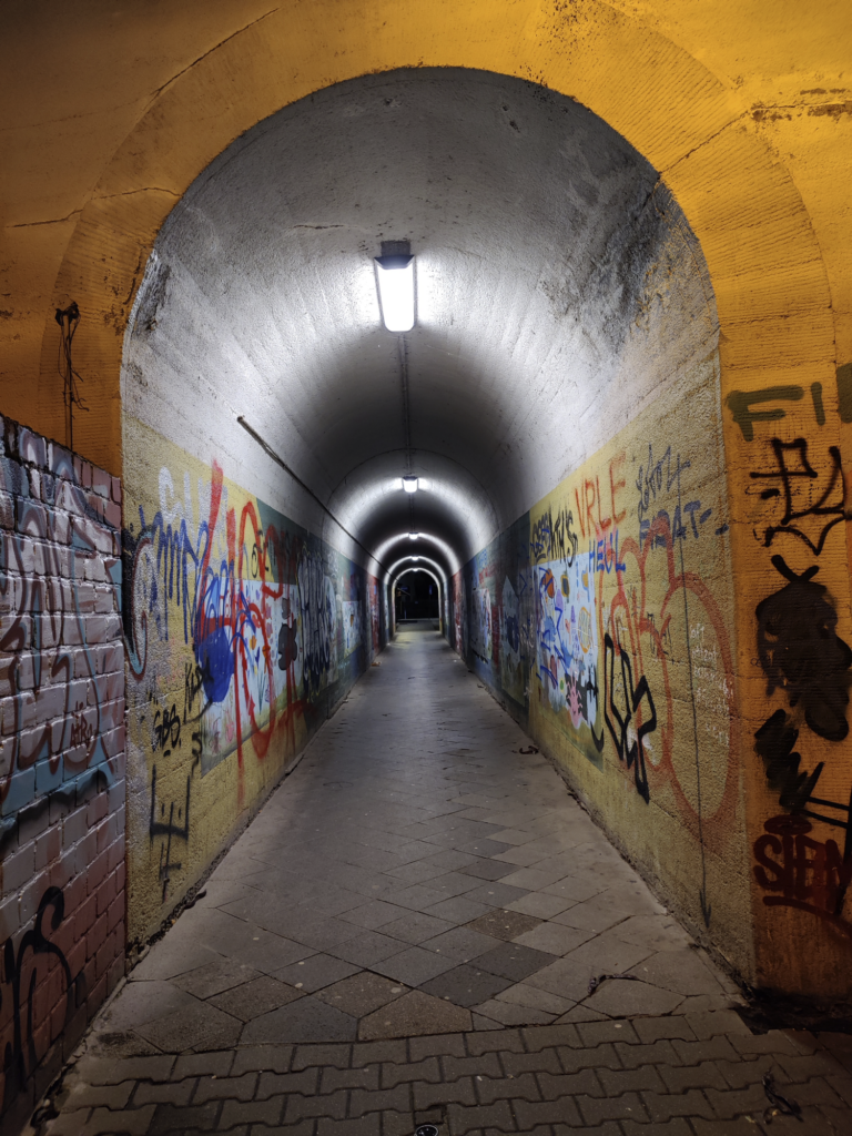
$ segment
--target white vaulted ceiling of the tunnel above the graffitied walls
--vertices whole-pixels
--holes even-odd
[[[373,257],[403,239],[401,339]],[[285,108],[197,179],[149,261],[124,407],[245,484],[268,458],[242,416],[370,552],[414,527],[456,570],[716,331],[688,226],[601,119],[504,76],[392,72]]]

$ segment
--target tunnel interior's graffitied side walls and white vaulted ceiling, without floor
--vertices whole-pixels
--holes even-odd
[[[402,332],[377,287],[399,250]],[[451,645],[747,969],[718,339],[665,178],[534,83],[354,78],[197,177],[122,366],[132,939],[381,652],[419,563]],[[193,744],[166,753],[172,708]]]

